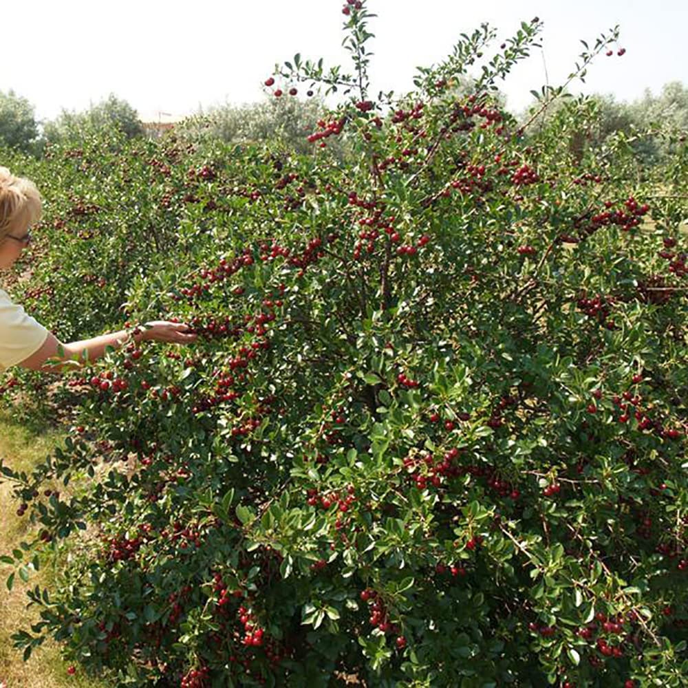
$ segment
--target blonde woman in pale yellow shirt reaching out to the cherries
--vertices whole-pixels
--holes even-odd
[[[31,243],[30,226],[40,217],[41,195],[35,184],[0,167],[0,270],[10,268]],[[105,347],[120,347],[130,338],[188,344],[197,336],[190,329],[184,323],[152,321],[133,333],[120,330],[63,344],[0,289],[0,372],[13,365],[61,372],[63,361],[94,361],[105,354]]]

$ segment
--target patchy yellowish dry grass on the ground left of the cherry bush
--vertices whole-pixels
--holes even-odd
[[[0,457],[12,469],[30,471],[61,440],[58,431],[40,425],[27,427],[10,413],[0,411]],[[28,519],[20,519],[16,511],[12,486],[0,483],[0,553],[11,551],[19,541],[32,535]],[[9,572],[8,566],[0,564],[0,685],[5,682],[7,688],[105,688],[106,684],[83,676],[78,669],[76,675],[69,676],[68,665],[54,643],[46,643],[28,662],[23,661],[21,652],[12,647],[10,636],[19,627],[28,628],[34,623],[36,611],[26,608],[25,585],[18,578],[12,591],[8,591],[5,581]],[[30,584],[45,583],[47,575],[34,574]]]

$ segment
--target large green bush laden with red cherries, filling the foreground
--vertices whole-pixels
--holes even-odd
[[[94,157],[108,222],[131,197],[160,221],[111,233],[142,262],[103,265],[109,307],[200,336],[70,374],[63,447],[2,467],[40,524],[3,561],[69,555],[17,647],[52,635],[120,685],[682,685],[685,139],[641,178],[623,136],[581,143],[585,103],[519,125],[495,91],[537,19],[372,98],[372,15],[343,12],[353,74],[297,55],[266,81],[345,96],[312,153]]]

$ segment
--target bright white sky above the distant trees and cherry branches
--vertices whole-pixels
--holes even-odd
[[[345,0],[4,0],[0,90],[14,89],[39,120],[80,110],[114,93],[144,120],[169,120],[200,107],[264,98],[275,62],[303,58],[341,63]],[[520,21],[544,20],[535,50],[501,88],[519,110],[530,89],[563,83],[601,32],[621,26],[619,58],[600,56],[587,92],[633,100],[671,80],[688,84],[688,0],[369,0],[379,15],[370,75],[380,89],[407,92],[418,65],[449,54],[462,32],[487,21],[506,39]],[[498,43],[495,44],[495,49]]]

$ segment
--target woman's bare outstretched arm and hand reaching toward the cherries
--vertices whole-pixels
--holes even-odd
[[[189,325],[184,323],[170,323],[168,321],[154,321],[147,323],[147,329],[133,334],[133,340],[137,343],[146,339],[163,342],[173,342],[178,344],[190,344],[195,341],[197,335],[187,332]],[[31,370],[41,372],[61,373],[70,364],[61,364],[61,361],[75,361],[77,365],[95,361],[105,354],[105,347],[119,348],[124,344],[127,337],[127,330],[119,332],[109,332],[101,334],[91,339],[70,342],[63,344],[52,332],[49,332],[43,346],[32,356],[29,356],[19,365]],[[54,361],[56,363],[50,363]],[[74,364],[71,364],[74,365]]]

